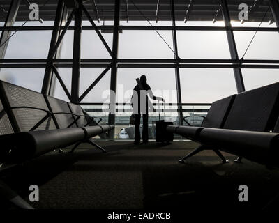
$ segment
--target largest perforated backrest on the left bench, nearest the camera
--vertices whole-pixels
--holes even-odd
[[[43,120],[49,111],[41,93],[25,89],[15,84],[0,81],[0,95],[15,132],[27,132]],[[33,107],[19,108],[14,107]],[[39,109],[44,109],[39,110]],[[36,130],[54,130],[56,125],[52,117],[45,119]]]

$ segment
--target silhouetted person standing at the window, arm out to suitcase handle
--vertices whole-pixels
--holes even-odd
[[[163,98],[156,97],[153,95],[151,91],[151,87],[146,83],[146,76],[142,75],[140,77],[140,83],[138,83],[134,88],[133,93],[133,113],[135,114],[135,143],[140,144],[140,118],[142,114],[143,119],[143,127],[142,127],[142,141],[144,144],[148,142],[149,134],[148,134],[148,95],[153,100],[162,100]],[[142,92],[141,92],[142,91]],[[135,95],[137,94],[137,95]],[[145,106],[144,106],[145,103]],[[141,106],[142,105],[142,106]]]

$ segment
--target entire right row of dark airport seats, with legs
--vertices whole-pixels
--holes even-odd
[[[229,98],[231,98],[229,100]],[[227,162],[220,151],[266,165],[277,165],[279,134],[279,82],[213,102],[201,127],[169,126],[167,131],[198,141],[201,145],[183,157],[184,162],[211,149]],[[234,98],[234,99],[232,99]]]

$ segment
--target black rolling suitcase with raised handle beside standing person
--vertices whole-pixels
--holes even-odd
[[[159,108],[160,109],[160,108]],[[165,105],[163,104],[164,116],[165,116]],[[159,112],[159,121],[156,121],[156,141],[157,142],[169,142],[174,140],[174,134],[172,132],[167,132],[167,125],[173,125],[172,122],[161,120]]]

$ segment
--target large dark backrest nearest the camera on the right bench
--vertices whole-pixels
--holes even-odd
[[[269,132],[279,114],[279,82],[236,95],[224,128]]]

